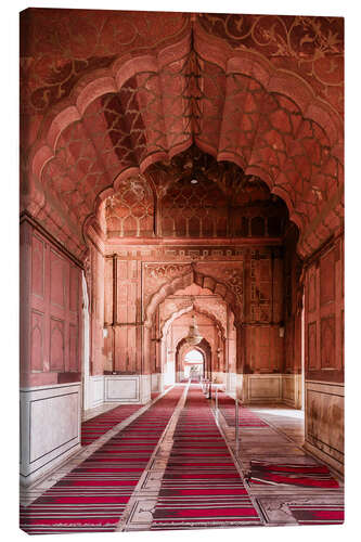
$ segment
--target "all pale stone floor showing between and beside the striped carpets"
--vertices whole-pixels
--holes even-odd
[[[134,493],[130,499],[127,509],[121,517],[119,531],[144,531],[152,522],[152,511],[157,501],[162,478],[167,465],[168,456],[172,447],[172,435],[184,405],[189,385],[183,385],[183,395],[175,409],[154,453],[144,469]],[[166,390],[167,392],[168,390]],[[126,429],[132,420],[141,415],[153,403],[144,405],[136,414],[118,424],[100,439],[85,447],[72,461],[67,462],[56,472],[52,473],[41,482],[26,491],[22,491],[21,501],[29,504],[49,487],[54,485],[70,469],[77,466],[88,455],[99,449],[105,441],[117,431]],[[86,412],[83,421],[94,415],[106,412],[117,404],[108,403],[102,408]],[[297,525],[293,516],[291,504],[343,504],[344,488],[343,480],[337,473],[333,473],[339,481],[338,489],[300,488],[295,486],[253,486],[247,482],[247,474],[252,460],[271,461],[280,463],[314,464],[317,462],[311,455],[302,450],[304,442],[304,413],[280,404],[260,404],[252,406],[250,410],[267,422],[266,427],[240,427],[238,446],[235,443],[235,428],[229,427],[220,411],[216,411],[215,402],[211,402],[214,414],[219,428],[228,443],[240,476],[249,492],[255,507],[259,511],[263,525]]]

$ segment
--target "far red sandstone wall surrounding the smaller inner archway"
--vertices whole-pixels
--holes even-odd
[[[261,247],[247,248],[241,251],[243,259],[238,261],[199,261],[199,270],[204,279],[202,287],[208,287],[211,279],[225,283],[237,302],[238,318],[245,324],[241,343],[237,346],[242,352],[242,363],[238,372],[273,373],[282,372],[284,363],[284,338],[280,337],[280,325],[283,322],[283,255],[280,248]],[[96,258],[100,258],[96,257]],[[100,266],[100,262],[99,262]],[[160,286],[191,271],[190,263],[145,263],[143,262],[143,280],[141,281],[142,259],[136,255],[134,259],[119,257],[105,258],[105,287],[104,321],[108,326],[108,338],[96,345],[93,339],[93,351],[98,359],[102,359],[99,371],[117,371],[123,373],[141,371],[141,309],[150,304],[152,297]],[[101,274],[96,268],[98,276]],[[168,276],[169,274],[169,276]],[[201,275],[201,276],[202,276]],[[210,282],[209,282],[210,281]],[[99,286],[101,287],[101,286]],[[101,300],[99,300],[101,304]],[[211,309],[209,309],[211,312]],[[96,313],[98,314],[98,313]],[[186,320],[186,318],[185,318]],[[184,320],[184,322],[185,322]],[[224,320],[224,319],[221,319]],[[154,321],[155,322],[155,321]],[[181,320],[177,321],[178,325]],[[100,336],[101,323],[93,325],[94,334]],[[185,324],[186,325],[186,324]],[[153,324],[155,326],[155,323]],[[215,327],[216,330],[216,327]],[[177,340],[183,338],[184,328]],[[206,332],[205,332],[206,334]],[[182,335],[182,336],[181,336]],[[157,372],[156,327],[150,332],[151,340],[149,356],[146,356],[150,372]],[[207,337],[208,339],[208,337]],[[209,338],[214,343],[214,338]],[[232,350],[233,348],[233,350]],[[101,351],[102,349],[102,351]],[[216,348],[217,349],[217,348]],[[216,350],[215,350],[216,352]],[[232,353],[233,352],[233,353]],[[235,346],[231,344],[230,360],[234,358]],[[94,353],[94,356],[95,356]],[[233,356],[233,358],[232,358]],[[219,361],[215,354],[214,370],[218,369]],[[235,372],[235,367],[230,371]],[[94,373],[93,374],[98,374]]]

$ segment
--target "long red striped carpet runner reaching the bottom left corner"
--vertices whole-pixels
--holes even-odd
[[[183,391],[170,390],[27,507],[30,534],[114,531]]]

